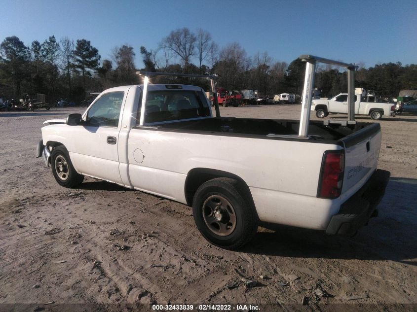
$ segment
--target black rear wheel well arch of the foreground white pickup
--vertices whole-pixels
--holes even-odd
[[[187,200],[187,205],[192,206],[192,199],[195,192],[200,187],[201,184],[207,182],[208,180],[218,178],[218,177],[228,177],[236,179],[239,183],[245,188],[249,196],[249,200],[252,206],[255,208],[255,204],[252,198],[251,191],[248,184],[238,175],[229,173],[222,170],[210,169],[210,168],[193,168],[187,174],[186,182],[184,185],[184,194]]]

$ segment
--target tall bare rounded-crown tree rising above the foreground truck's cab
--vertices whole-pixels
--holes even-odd
[[[170,49],[177,54],[184,63],[187,71],[190,58],[195,53],[195,42],[197,38],[188,28],[172,31],[167,37],[162,39],[161,47]]]

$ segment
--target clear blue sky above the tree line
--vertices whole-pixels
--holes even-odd
[[[367,68],[417,64],[416,0],[0,0],[0,8],[0,40],[85,38],[102,60],[129,44],[138,68],[140,46],[155,49],[183,27],[208,31],[220,48],[238,42],[249,56],[266,51],[287,63],[313,54]]]

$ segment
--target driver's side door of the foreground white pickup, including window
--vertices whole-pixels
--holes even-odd
[[[127,90],[102,95],[84,114],[83,124],[72,129],[75,139],[70,157],[77,171],[121,183],[117,141]]]

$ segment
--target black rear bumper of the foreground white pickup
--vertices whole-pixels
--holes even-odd
[[[390,175],[388,171],[377,170],[359,191],[341,205],[339,213],[331,218],[326,234],[354,235],[368,224],[371,217],[376,217],[376,208],[385,194]]]

